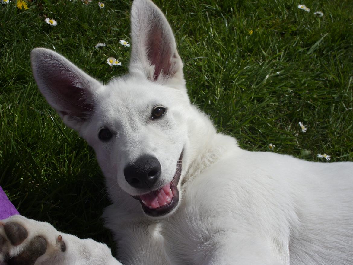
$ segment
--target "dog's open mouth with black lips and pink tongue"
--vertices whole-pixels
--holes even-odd
[[[149,216],[162,216],[172,211],[179,202],[179,190],[177,188],[181,175],[181,152],[177,162],[177,169],[175,170],[173,180],[162,188],[153,190],[150,193],[133,196],[133,198],[140,201],[143,211]]]

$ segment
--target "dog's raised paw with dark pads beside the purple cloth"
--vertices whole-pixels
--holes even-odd
[[[119,265],[109,248],[14,215],[0,223],[0,265]]]

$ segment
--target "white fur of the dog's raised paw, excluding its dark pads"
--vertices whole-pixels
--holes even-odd
[[[22,225],[28,231],[28,237],[18,246],[12,246],[4,231],[3,224],[15,222]],[[5,242],[0,246],[0,264],[5,255],[16,257],[28,248],[30,241],[36,236],[44,237],[47,242],[47,250],[41,255],[35,265],[121,265],[111,255],[110,249],[91,239],[79,239],[76,236],[56,231],[56,229],[45,222],[38,222],[14,215],[1,221],[0,236],[5,238]],[[61,251],[58,243],[58,236],[65,242],[66,250]],[[5,263],[7,264],[7,263]],[[11,263],[15,264],[16,263]],[[23,264],[23,263],[21,263]]]

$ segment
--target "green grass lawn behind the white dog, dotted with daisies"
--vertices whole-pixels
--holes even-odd
[[[273,152],[306,160],[327,153],[325,163],[353,161],[351,0],[155,2],[175,32],[191,101],[219,131],[252,151],[273,143]],[[112,245],[100,220],[109,201],[94,152],[47,105],[29,61],[31,49],[46,47],[104,82],[125,73],[130,49],[118,42],[130,42],[131,3],[97,3],[0,5],[0,185],[21,214]],[[98,42],[107,46],[95,49]],[[123,66],[109,67],[109,56]]]

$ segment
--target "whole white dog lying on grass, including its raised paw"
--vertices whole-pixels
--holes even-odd
[[[191,105],[172,29],[150,0],[133,2],[131,30],[130,71],[106,85],[56,52],[31,55],[42,94],[96,152],[120,262],[353,264],[353,163],[240,149]],[[9,264],[120,264],[47,223],[2,223]]]

